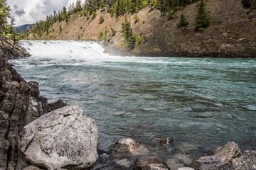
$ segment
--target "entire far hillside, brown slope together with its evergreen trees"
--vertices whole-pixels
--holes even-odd
[[[23,39],[100,40],[132,55],[253,57],[255,6],[255,0],[77,1]]]

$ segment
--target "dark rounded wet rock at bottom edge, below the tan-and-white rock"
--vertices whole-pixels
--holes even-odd
[[[159,159],[147,159],[140,161],[135,170],[169,170],[169,166]]]

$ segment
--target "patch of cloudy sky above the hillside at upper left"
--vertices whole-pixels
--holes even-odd
[[[15,26],[36,23],[45,20],[47,15],[53,14],[53,10],[62,10],[77,0],[7,0],[11,8],[11,16],[16,20]],[[82,1],[83,2],[83,1]]]

